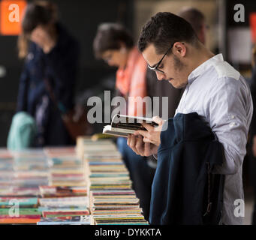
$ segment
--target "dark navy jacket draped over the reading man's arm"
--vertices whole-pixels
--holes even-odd
[[[197,113],[179,113],[164,124],[149,223],[218,224],[224,176],[210,171],[223,163],[223,146]]]

